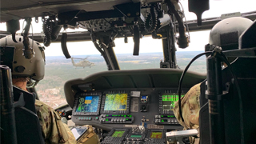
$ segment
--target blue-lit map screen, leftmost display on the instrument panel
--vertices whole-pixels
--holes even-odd
[[[84,96],[78,99],[75,112],[94,113],[98,110],[98,95]]]

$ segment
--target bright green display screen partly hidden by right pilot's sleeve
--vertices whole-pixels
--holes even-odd
[[[162,110],[174,110],[174,103],[177,101],[178,95],[162,95]]]

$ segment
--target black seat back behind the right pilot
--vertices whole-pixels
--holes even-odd
[[[224,126],[226,143],[255,143],[256,142],[256,58],[238,58],[232,67],[238,78],[238,87],[233,84],[233,76],[227,68],[222,70],[222,90],[230,89],[223,99]],[[206,103],[206,84],[201,86],[200,96],[200,144],[210,143],[209,106]],[[242,110],[240,103],[242,104]],[[242,114],[241,114],[242,113]]]

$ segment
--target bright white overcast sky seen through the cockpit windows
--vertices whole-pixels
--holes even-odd
[[[188,11],[187,0],[180,0],[185,11],[186,20],[195,20],[196,15]],[[202,14],[202,18],[213,18],[220,17],[221,14],[228,14],[234,12],[249,12],[255,10],[255,0],[210,0],[210,10]],[[20,22],[21,28],[23,22]],[[25,26],[25,24],[24,24]],[[32,22],[33,33],[42,32],[42,22],[39,20],[38,23]],[[5,23],[0,23],[0,30],[6,30]],[[32,30],[30,28],[30,30]],[[19,30],[18,33],[21,33]],[[74,30],[66,30],[74,31]],[[81,31],[81,29],[75,30]],[[32,31],[30,31],[32,33]],[[208,43],[210,30],[204,30],[199,32],[190,32],[190,46],[186,49],[180,49],[178,51],[203,51],[204,46]],[[133,54],[134,42],[132,38],[128,38],[128,43],[124,43],[123,38],[115,39],[115,54]],[[43,44],[42,44],[43,46]],[[67,42],[67,47],[70,55],[90,55],[100,54],[94,47],[92,42]],[[154,53],[162,52],[162,40],[153,39],[151,37],[143,37],[140,40],[140,53]],[[60,43],[51,43],[50,46],[46,47],[46,56],[62,56],[62,49]]]

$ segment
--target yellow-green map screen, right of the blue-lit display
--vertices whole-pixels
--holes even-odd
[[[104,110],[126,110],[128,94],[106,94]]]

